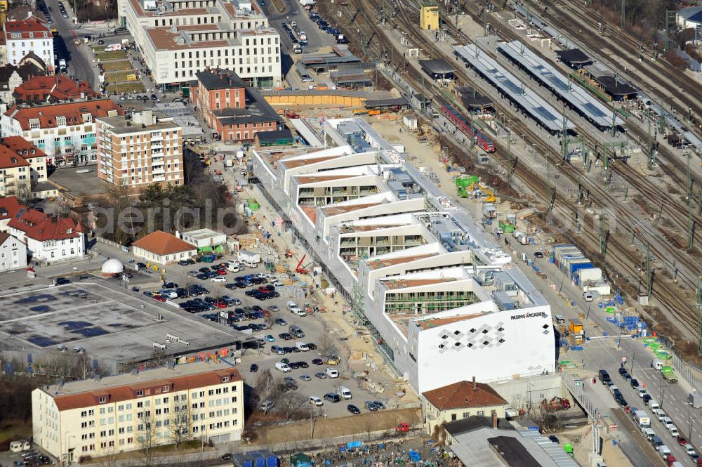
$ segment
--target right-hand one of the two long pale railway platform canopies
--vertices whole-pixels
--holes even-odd
[[[498,50],[516,63],[532,77],[549,88],[556,96],[567,102],[571,108],[591,121],[598,128],[611,128],[624,123],[619,117],[613,118],[613,110],[604,105],[595,96],[574,84],[567,76],[559,72],[544,58],[536,55],[529,47],[519,41],[500,42]]]

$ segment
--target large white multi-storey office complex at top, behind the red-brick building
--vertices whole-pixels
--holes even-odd
[[[119,0],[117,11],[161,86],[219,67],[248,86],[281,84],[280,37],[258,2]]]

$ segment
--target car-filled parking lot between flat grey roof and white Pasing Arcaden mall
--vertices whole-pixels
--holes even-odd
[[[242,287],[227,289],[228,284],[234,284],[237,277],[253,275],[267,275],[267,271],[263,266],[257,268],[246,268],[239,272],[227,272],[226,275],[212,275],[212,279],[224,277],[227,282],[212,282],[211,279],[204,277],[193,277],[188,275],[188,272],[194,274],[200,269],[213,271],[218,263],[227,261],[227,258],[220,258],[215,263],[196,263],[194,265],[171,265],[166,273],[166,282],[173,282],[180,289],[197,290],[197,287],[202,287],[208,291],[208,294],[192,294],[189,297],[171,298],[169,301],[173,303],[185,304],[187,301],[196,300],[198,303],[211,303],[208,310],[191,309],[191,315],[197,316],[202,320],[211,320],[217,323],[220,327],[230,327],[244,329],[249,327],[252,336],[258,337],[258,343],[253,343],[249,348],[245,348],[243,355],[237,364],[241,367],[241,374],[244,376],[246,383],[251,386],[256,385],[256,379],[260,371],[269,369],[275,379],[282,380],[287,377],[294,381],[294,386],[305,398],[310,395],[317,396],[320,399],[324,398],[326,393],[337,393],[339,386],[346,386],[352,392],[351,400],[341,400],[340,402],[329,402],[324,400],[324,404],[319,407],[322,414],[331,417],[348,416],[347,404],[355,404],[361,412],[367,412],[364,407],[364,402],[379,400],[383,404],[387,404],[387,396],[371,394],[359,388],[358,383],[349,369],[349,350],[347,349],[347,338],[343,332],[338,329],[325,327],[322,319],[322,313],[311,313],[303,315],[288,310],[288,302],[294,301],[299,308],[305,305],[305,298],[292,298],[279,294],[278,297],[268,298],[266,300],[258,300],[252,296],[246,295],[246,291],[256,290],[259,287],[272,285],[277,279],[284,279],[284,275],[273,276],[271,279],[265,279],[265,282]],[[231,285],[230,285],[231,287]],[[177,290],[176,287],[171,287],[168,290]],[[141,290],[143,293],[145,290]],[[159,288],[152,288],[146,292],[154,293],[159,291]],[[181,294],[184,290],[181,290]],[[223,299],[225,298],[225,299]],[[226,304],[226,301],[239,303],[234,305]],[[221,308],[218,308],[221,307]],[[254,308],[256,307],[256,308]],[[259,310],[260,308],[260,310]],[[183,313],[189,313],[183,310]],[[229,315],[232,319],[229,319]],[[228,321],[228,322],[227,322]],[[251,329],[253,325],[256,330]],[[305,336],[296,338],[294,336],[281,336],[282,334],[291,334],[290,327],[298,326],[304,332]],[[266,328],[266,329],[264,329]],[[329,334],[329,336],[324,336]],[[287,340],[286,340],[287,339]],[[300,350],[296,348],[298,343],[312,343],[316,348],[312,350]],[[276,347],[281,348],[277,350]],[[287,348],[285,350],[282,350]],[[332,350],[332,349],[336,350]],[[276,353],[277,352],[279,353]],[[339,360],[336,364],[329,364],[329,354],[336,353]],[[291,362],[290,371],[281,371],[276,369],[276,364],[282,359],[287,359]],[[317,360],[317,364],[313,363]],[[333,362],[334,360],[332,360]],[[302,367],[298,367],[296,362],[304,362]],[[251,364],[258,365],[255,372],[251,371]],[[329,377],[327,369],[336,369],[339,373],[337,378]],[[319,376],[316,376],[320,374]],[[293,385],[289,384],[291,388]],[[312,404],[310,404],[312,407]]]

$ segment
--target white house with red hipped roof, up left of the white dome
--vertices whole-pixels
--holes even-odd
[[[7,225],[10,235],[27,245],[27,254],[34,261],[60,261],[86,254],[83,225],[70,218],[27,209],[11,218]]]

